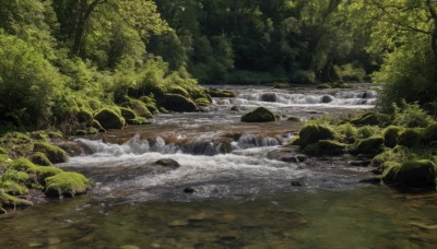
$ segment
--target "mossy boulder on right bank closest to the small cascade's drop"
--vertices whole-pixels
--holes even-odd
[[[302,128],[299,139],[295,142],[295,145],[305,149],[307,145],[317,143],[320,140],[335,140],[336,138],[338,135],[330,127],[307,123]]]

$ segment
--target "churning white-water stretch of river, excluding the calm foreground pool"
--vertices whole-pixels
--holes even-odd
[[[309,118],[309,110],[371,108],[376,102],[375,92],[322,91],[319,94],[312,91],[303,94],[267,87],[234,91],[236,98],[214,98],[214,104],[204,114],[157,116],[154,124],[135,128],[131,139],[121,144],[76,139],[86,153],[60,166],[92,177],[97,182],[96,195],[128,201],[255,197],[276,191],[341,189],[357,185],[363,170],[351,169],[344,159],[309,158],[285,163],[270,158],[269,153],[293,138],[285,132],[290,124],[277,121],[245,127],[239,117],[240,112],[255,106],[265,106],[285,117],[296,115],[303,120]],[[239,111],[231,110],[233,106]],[[224,139],[231,130],[240,134]],[[255,130],[258,133],[252,133]],[[276,130],[275,134],[263,133]],[[143,133],[152,134],[152,139],[142,138]],[[168,140],[162,133],[172,134],[173,139]],[[110,131],[105,134],[107,138],[117,135]],[[178,162],[180,167],[170,169],[155,164],[168,158]],[[299,181],[303,187],[292,187],[292,181]],[[194,192],[185,193],[186,188]]]

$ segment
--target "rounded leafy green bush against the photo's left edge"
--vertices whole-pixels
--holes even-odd
[[[31,44],[0,29],[0,117],[15,124],[44,123],[60,75]]]

